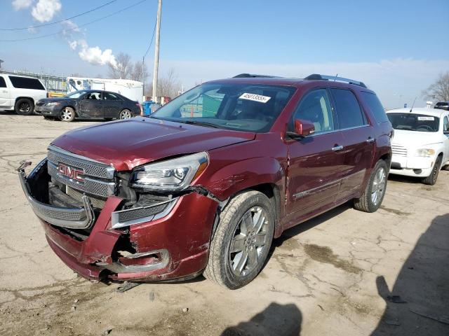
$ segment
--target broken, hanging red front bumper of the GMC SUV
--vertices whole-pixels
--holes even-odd
[[[206,267],[217,209],[214,200],[189,193],[154,207],[123,210],[123,199],[110,196],[102,209],[93,209],[84,195],[79,207],[59,207],[42,196],[51,179],[46,163],[40,162],[29,176],[25,174],[29,164],[22,165],[20,183],[48,244],[81,276],[165,281],[198,274]],[[88,232],[85,238],[73,235],[81,230]]]

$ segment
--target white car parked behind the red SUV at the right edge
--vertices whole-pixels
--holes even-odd
[[[441,167],[449,167],[449,111],[396,109],[387,116],[394,128],[390,174],[434,185]]]

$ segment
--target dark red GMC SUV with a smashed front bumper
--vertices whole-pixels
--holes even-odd
[[[349,200],[380,207],[392,134],[361,82],[243,73],[151,116],[67,132],[18,171],[48,244],[81,276],[202,273],[239,288],[283,230]]]

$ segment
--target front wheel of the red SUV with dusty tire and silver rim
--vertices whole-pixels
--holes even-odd
[[[250,283],[264,266],[272,244],[273,208],[269,198],[255,190],[234,197],[220,214],[203,276],[229,289]]]

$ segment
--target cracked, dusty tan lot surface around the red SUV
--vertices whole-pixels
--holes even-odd
[[[1,335],[449,335],[449,172],[390,178],[377,213],[344,204],[286,231],[245,288],[199,277],[117,293],[56,257],[15,172],[90,124],[0,111]]]

